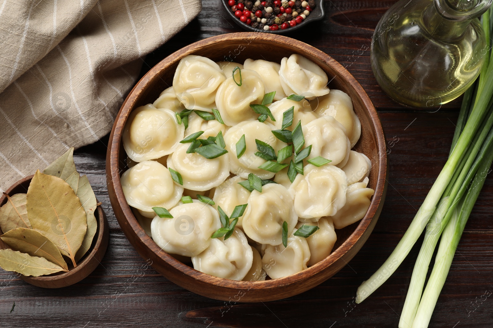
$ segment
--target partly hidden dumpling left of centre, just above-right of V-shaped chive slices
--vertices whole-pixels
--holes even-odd
[[[212,200],[215,205],[212,206],[215,209],[220,206],[229,216],[233,213],[233,209],[235,209],[236,206],[246,204],[248,202],[248,197],[250,197],[250,192],[238,184],[238,182],[241,181],[245,181],[245,179],[236,176],[221,183],[214,191]],[[239,228],[243,226],[243,216],[238,218],[236,226]]]

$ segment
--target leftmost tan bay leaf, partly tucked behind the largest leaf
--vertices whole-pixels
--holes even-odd
[[[0,228],[7,232],[15,228],[31,228],[26,208],[26,194],[15,194],[7,197],[7,203],[0,208]]]

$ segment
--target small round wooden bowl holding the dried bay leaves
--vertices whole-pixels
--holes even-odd
[[[28,191],[29,184],[33,176],[20,179],[14,183],[5,192],[9,196],[13,196],[19,193],[26,193]],[[0,206],[7,202],[7,197],[2,195],[0,197]],[[50,275],[43,275],[39,277],[25,276],[21,274],[21,279],[29,282],[31,285],[35,285],[43,288],[61,288],[67,287],[81,281],[101,263],[108,247],[109,228],[106,221],[106,215],[101,206],[98,206],[94,212],[96,220],[98,221],[98,230],[94,235],[91,248],[88,252],[79,260],[77,267],[73,268],[69,266],[68,272],[57,272]],[[3,232],[0,229],[0,234]],[[6,243],[0,239],[0,249],[10,248]]]

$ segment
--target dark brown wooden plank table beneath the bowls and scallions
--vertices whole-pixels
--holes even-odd
[[[347,66],[378,109],[387,135],[390,173],[382,215],[361,251],[339,273],[306,293],[267,303],[226,305],[176,286],[146,268],[113,215],[106,192],[106,137],[78,149],[75,158],[108,217],[110,241],[102,264],[80,283],[59,290],[31,286],[1,270],[0,327],[397,327],[422,239],[390,279],[357,305],[356,288],[390,254],[445,164],[459,102],[440,109],[405,108],[377,85],[370,69],[370,39],[393,2],[326,0],[322,22],[290,35]],[[142,74],[189,43],[241,31],[226,19],[219,0],[204,0],[203,7],[197,19],[147,56]],[[480,300],[486,291],[493,291],[492,195],[489,178],[459,243],[430,327],[493,327],[493,299]]]

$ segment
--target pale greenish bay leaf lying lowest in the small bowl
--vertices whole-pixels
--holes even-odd
[[[40,276],[67,271],[43,257],[31,256],[11,249],[0,249],[0,267],[26,276]]]

